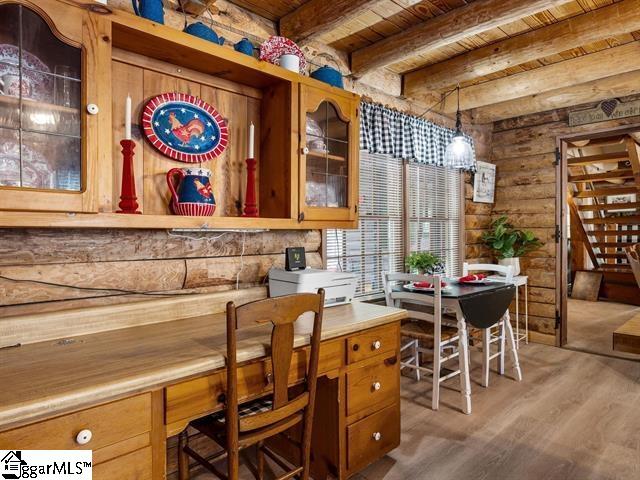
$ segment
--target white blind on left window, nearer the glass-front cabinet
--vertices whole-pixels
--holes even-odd
[[[357,296],[383,291],[382,272],[403,271],[402,160],[360,153],[358,230],[327,230],[327,268],[358,275]]]

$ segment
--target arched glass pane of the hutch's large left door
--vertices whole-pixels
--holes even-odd
[[[82,51],[0,5],[0,187],[80,192]]]

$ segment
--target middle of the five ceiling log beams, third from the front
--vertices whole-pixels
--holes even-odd
[[[443,88],[640,29],[640,0],[623,0],[405,75],[407,92]]]

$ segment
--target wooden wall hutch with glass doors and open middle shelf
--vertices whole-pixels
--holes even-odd
[[[123,65],[131,77],[114,74]],[[215,165],[235,172],[236,183],[244,182],[236,170],[244,166],[242,132],[252,115],[259,220],[222,208],[221,199],[241,204],[244,189],[226,174],[216,179],[220,208],[211,219],[167,211],[166,172],[183,165],[137,137],[140,108],[151,96],[192,87],[230,122],[232,148]],[[135,216],[116,214],[127,93],[138,145],[142,215]],[[358,106],[354,93],[111,5],[0,0],[0,226],[354,228]]]

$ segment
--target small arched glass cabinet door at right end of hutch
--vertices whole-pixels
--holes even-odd
[[[357,97],[300,87],[300,219],[357,218]]]

